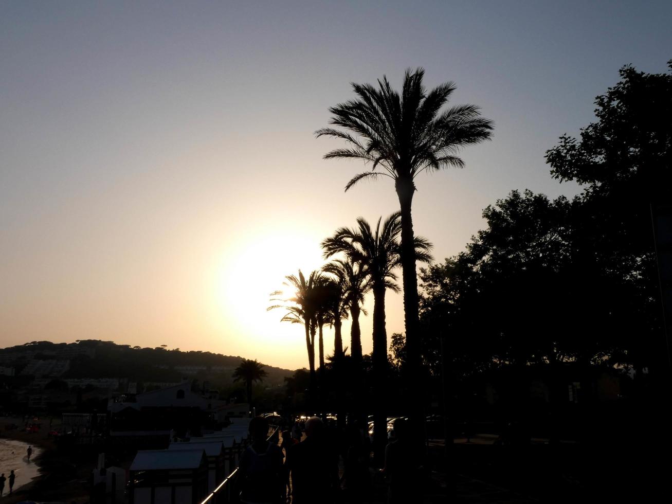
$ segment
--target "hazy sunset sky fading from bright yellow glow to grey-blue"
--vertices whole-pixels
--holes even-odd
[[[415,232],[442,261],[511,190],[580,191],[544,152],[594,119],[622,65],[666,71],[670,19],[669,1],[4,1],[0,346],[103,339],[307,366],[269,293],[320,267],[336,228],[398,208],[388,179],[345,193],[364,165],[323,160],[341,144],[314,138],[351,82],[398,88],[423,67],[495,122],[464,169],[416,181]],[[402,332],[401,296],[386,308]]]

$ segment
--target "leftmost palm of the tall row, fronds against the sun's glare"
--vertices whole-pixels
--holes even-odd
[[[306,331],[306,350],[308,351],[308,367],[310,369],[310,392],[315,390],[315,331],[316,331],[316,289],[321,282],[321,272],[311,271],[308,279],[298,270],[298,276],[288,275],[283,285],[294,289],[295,294],[289,298],[278,298],[283,295],[282,290],[271,292],[271,301],[282,301],[290,304],[274,304],[266,310],[285,308],[287,313],[280,319],[281,322],[300,323]]]

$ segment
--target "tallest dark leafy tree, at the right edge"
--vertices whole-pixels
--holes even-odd
[[[672,60],[667,65],[672,71]],[[579,139],[561,136],[546,162],[554,178],[582,185],[592,255],[615,283],[630,286],[630,312],[646,320],[650,336],[630,349],[636,368],[667,368],[651,214],[672,201],[672,72],[626,66],[620,77],[595,99],[597,121]]]

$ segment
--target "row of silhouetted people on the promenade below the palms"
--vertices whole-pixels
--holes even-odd
[[[341,490],[350,502],[363,500],[370,481],[366,429],[351,425],[339,433],[319,417],[311,417],[304,422],[303,438],[301,427],[296,422],[291,430],[283,431],[282,444],[278,446],[267,440],[267,419],[255,417],[250,421],[251,444],[243,452],[239,466],[241,503],[280,504],[291,495],[292,504],[329,504]],[[413,456],[403,420],[394,423],[394,434],[381,470],[389,480],[388,502],[411,502],[407,500],[411,498],[412,483],[407,467]],[[340,478],[339,457],[343,458]]]

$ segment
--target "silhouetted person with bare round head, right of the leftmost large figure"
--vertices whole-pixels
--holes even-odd
[[[306,439],[291,446],[285,462],[292,476],[292,504],[333,503],[339,487],[338,452],[318,417],[306,421]]]

